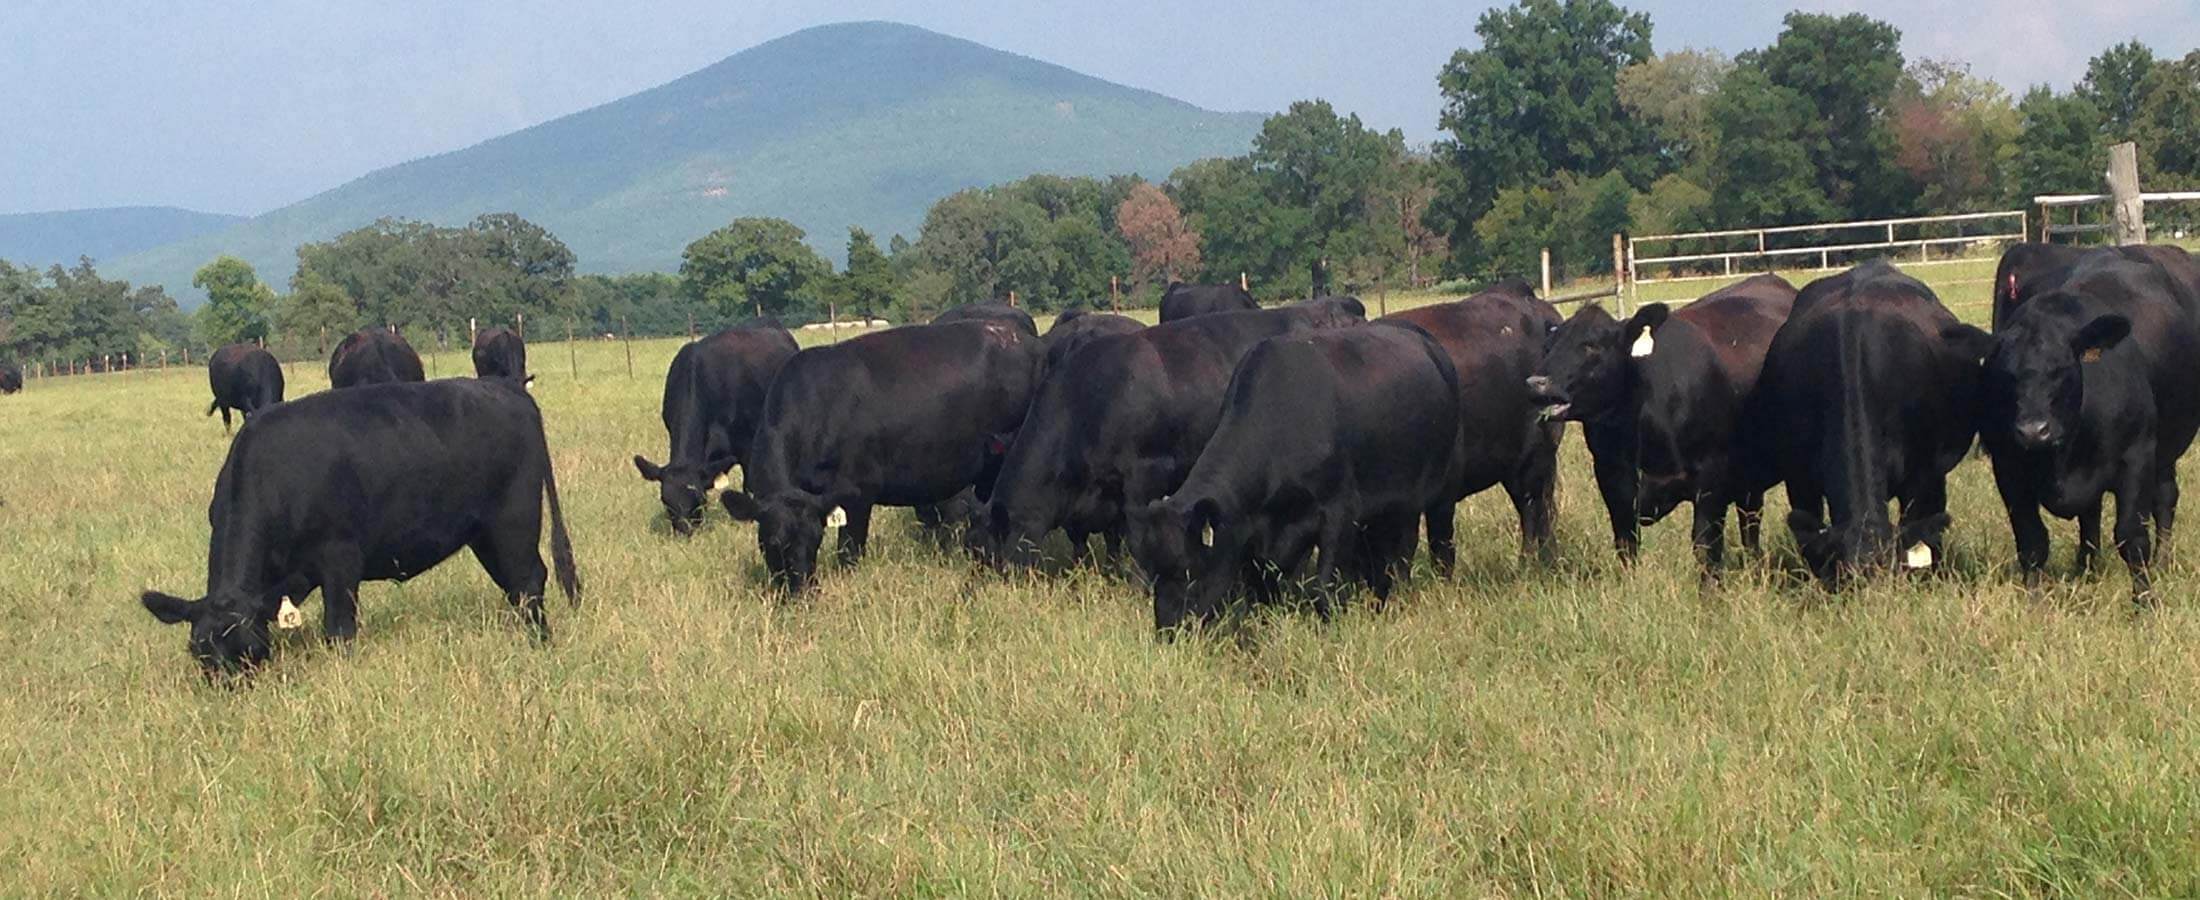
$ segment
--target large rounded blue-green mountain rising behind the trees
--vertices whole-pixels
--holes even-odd
[[[583,271],[673,271],[691,240],[737,216],[788,218],[838,260],[849,224],[915,238],[933,200],[1030,174],[1162,178],[1243,154],[1261,119],[906,24],[829,24],[112,268],[194,297],[189,275],[233,253],[284,284],[301,242],[383,216],[462,224],[491,211],[548,227]]]

